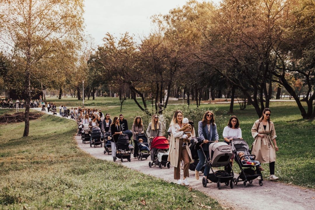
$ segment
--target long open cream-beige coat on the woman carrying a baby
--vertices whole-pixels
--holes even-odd
[[[171,125],[171,139],[169,142],[169,157],[167,161],[171,163],[172,166],[177,167],[178,162],[178,155],[179,155],[179,139],[183,138],[183,131],[179,131],[180,127],[177,123],[174,125]],[[191,137],[189,138],[191,140]],[[192,153],[190,152],[190,149],[188,148],[188,145],[186,145],[186,150],[189,155],[189,162],[192,161]]]

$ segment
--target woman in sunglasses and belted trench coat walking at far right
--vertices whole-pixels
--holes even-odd
[[[270,180],[279,179],[274,175],[276,151],[279,150],[276,142],[276,131],[273,122],[270,121],[271,110],[266,108],[262,112],[261,118],[256,120],[252,127],[252,136],[255,141],[253,143],[252,154],[255,160],[261,163],[269,163]],[[273,143],[273,144],[272,144]],[[258,180],[261,179],[259,176]]]

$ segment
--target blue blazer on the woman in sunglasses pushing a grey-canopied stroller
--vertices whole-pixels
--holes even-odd
[[[203,141],[204,139],[209,141],[219,140],[218,131],[216,128],[216,124],[210,126],[210,133],[208,132],[208,126],[203,127],[202,121],[198,122],[198,141]],[[203,144],[202,149],[204,151],[209,151],[210,143]]]

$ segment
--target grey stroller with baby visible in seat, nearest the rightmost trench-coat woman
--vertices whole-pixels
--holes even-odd
[[[241,161],[242,157],[246,156],[254,156],[250,154],[249,146],[243,139],[233,139],[232,140],[232,151],[234,154],[234,160],[237,162],[239,168],[241,169],[241,173],[239,174],[238,178],[234,178],[233,182],[236,185],[239,181],[243,181],[243,186],[247,187],[247,181],[249,184],[253,183],[253,179],[256,179],[257,177],[261,177],[261,180],[259,180],[259,185],[262,186],[262,174],[261,171],[258,168],[258,164],[256,165],[250,165],[250,164],[243,164]],[[238,156],[239,152],[243,152],[245,155],[241,156],[241,158]],[[256,167],[256,170],[255,170]]]

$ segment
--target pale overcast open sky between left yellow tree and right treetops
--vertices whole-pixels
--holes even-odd
[[[148,35],[153,28],[152,15],[167,14],[185,3],[186,0],[85,0],[85,33],[95,39],[95,44],[101,44],[107,32],[115,37],[126,31],[136,37]]]

